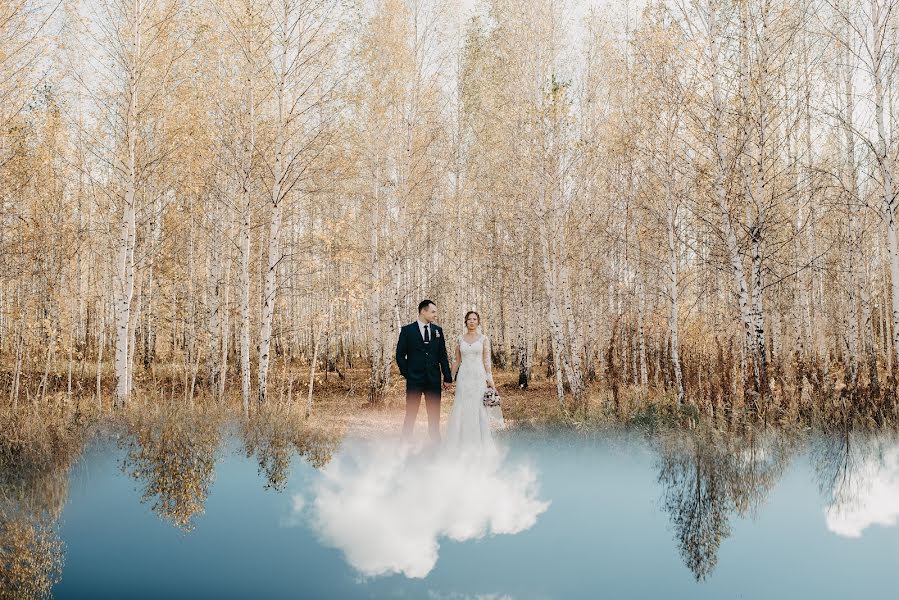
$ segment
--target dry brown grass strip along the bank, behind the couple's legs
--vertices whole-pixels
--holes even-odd
[[[719,348],[720,350],[720,348]],[[769,395],[757,406],[751,406],[751,393],[742,391],[735,365],[724,351],[694,352],[691,361],[704,368],[685,368],[687,400],[679,406],[666,379],[670,374],[650,369],[650,385],[634,385],[635,374],[625,368],[623,361],[611,372],[600,374],[599,380],[588,384],[585,408],[572,412],[570,395],[562,406],[557,398],[555,382],[543,369],[534,369],[528,389],[518,387],[518,374],[498,371],[495,378],[503,398],[503,415],[510,427],[557,425],[589,428],[608,424],[667,424],[692,428],[699,424],[715,429],[732,429],[748,423],[762,423],[781,427],[892,427],[897,419],[895,385],[884,373],[880,395],[870,397],[865,388],[848,389],[841,380],[841,371],[831,370],[832,385],[822,382],[820,366],[804,365],[801,378],[793,367],[772,369]],[[617,364],[617,359],[613,364]],[[328,435],[342,436],[348,432],[362,436],[399,435],[405,411],[404,382],[396,374],[386,390],[383,402],[367,403],[368,370],[353,368],[340,375],[316,375],[313,405],[307,417],[308,369],[296,365],[290,369],[273,370],[265,405],[251,402],[245,414],[238,389],[239,382],[228,382],[228,395],[223,400],[212,397],[206,382],[200,377],[194,385],[193,397],[185,387],[179,365],[156,365],[151,370],[139,370],[135,375],[135,393],[124,409],[111,409],[113,379],[103,380],[101,398],[96,397],[95,373],[89,370],[84,378],[73,379],[73,393],[67,394],[68,379],[51,377],[54,387],[38,400],[34,390],[18,402],[13,411],[9,404],[0,412],[0,434],[6,438],[4,447],[48,445],[41,452],[52,453],[54,444],[64,441],[64,428],[104,425],[127,426],[149,418],[179,414],[182,411],[205,415],[217,421],[241,420],[263,416],[271,421],[283,421],[294,429],[315,430]],[[33,375],[33,374],[32,374]],[[77,375],[77,373],[76,373]],[[25,381],[34,379],[27,376]],[[797,383],[801,381],[802,383]],[[28,386],[23,386],[27,390]],[[452,409],[452,392],[445,392],[441,403],[442,423]],[[68,416],[66,416],[68,415]],[[155,415],[155,417],[154,417]],[[60,429],[60,428],[63,429]],[[426,435],[427,417],[424,405],[419,409],[415,436]],[[55,433],[54,433],[55,432]],[[37,445],[37,446],[36,446]]]

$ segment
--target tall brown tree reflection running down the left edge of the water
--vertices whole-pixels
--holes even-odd
[[[85,434],[71,415],[40,419],[0,424],[0,599],[49,597],[62,573],[57,519]]]

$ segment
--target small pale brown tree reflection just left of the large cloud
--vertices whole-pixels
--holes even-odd
[[[265,487],[275,490],[286,487],[294,453],[318,469],[328,464],[342,438],[337,429],[314,427],[277,409],[254,413],[240,433],[247,458],[256,457]]]

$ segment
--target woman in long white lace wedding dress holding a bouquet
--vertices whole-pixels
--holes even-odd
[[[490,339],[480,332],[481,317],[465,314],[465,333],[456,344],[453,381],[456,396],[447,422],[445,447],[454,450],[495,451],[491,424],[503,427],[502,409],[484,406],[487,387],[496,388],[490,358]]]

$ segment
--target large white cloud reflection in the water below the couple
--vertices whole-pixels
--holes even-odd
[[[424,577],[437,562],[439,538],[471,540],[534,525],[548,501],[537,475],[506,452],[429,456],[420,447],[346,438],[294,512],[321,540],[343,551],[364,575]],[[294,520],[294,519],[291,519]]]

